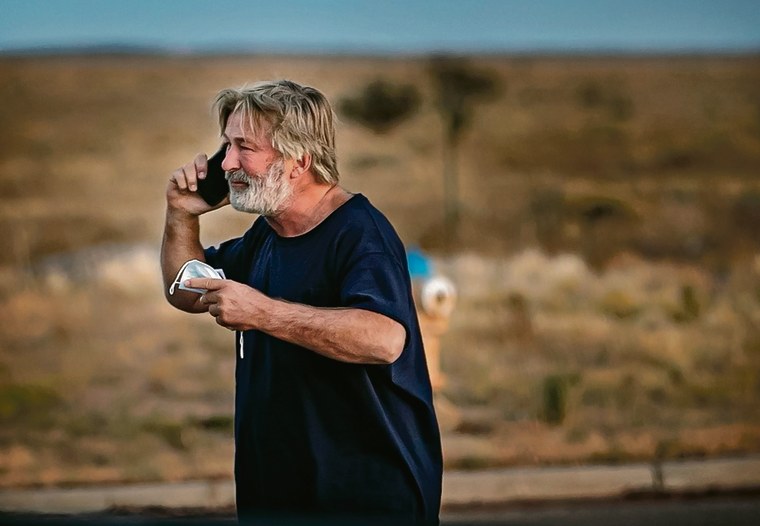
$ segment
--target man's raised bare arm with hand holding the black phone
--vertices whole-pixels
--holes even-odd
[[[211,207],[196,193],[198,179],[205,177],[206,170],[206,156],[199,154],[193,162],[175,170],[166,187],[166,223],[161,243],[164,295],[169,303],[186,312],[206,312],[208,306],[198,301],[198,294],[178,287],[170,295],[169,287],[185,262],[191,259],[205,261],[199,216],[229,203],[225,199],[218,206]]]

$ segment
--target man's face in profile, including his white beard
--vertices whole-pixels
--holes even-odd
[[[235,210],[274,216],[287,207],[293,188],[282,155],[265,135],[253,133],[240,112],[230,115],[224,131],[229,146],[222,167],[227,172],[230,204]]]

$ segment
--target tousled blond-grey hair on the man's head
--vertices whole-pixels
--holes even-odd
[[[251,129],[266,131],[272,148],[285,158],[310,154],[317,180],[337,184],[334,114],[320,91],[289,80],[258,82],[220,91],[214,109],[222,133],[230,115],[242,111]]]

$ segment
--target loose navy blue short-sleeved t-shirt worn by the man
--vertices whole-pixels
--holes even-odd
[[[264,218],[205,251],[228,279],[315,307],[383,314],[406,329],[390,365],[340,362],[259,331],[236,349],[238,514],[398,516],[438,522],[441,441],[404,247],[357,194],[284,238]]]

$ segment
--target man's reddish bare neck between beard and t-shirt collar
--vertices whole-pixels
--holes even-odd
[[[296,193],[285,210],[266,220],[281,237],[300,236],[324,221],[351,196],[337,184],[310,185]]]

